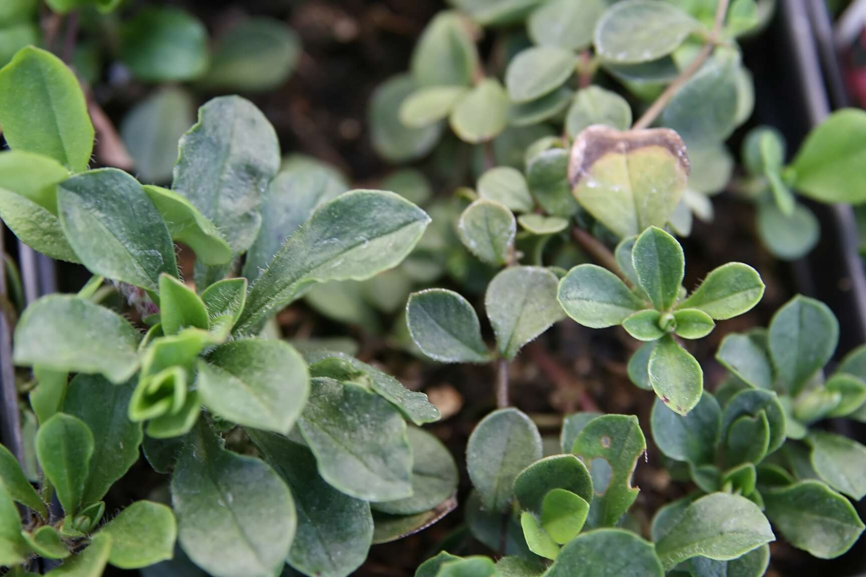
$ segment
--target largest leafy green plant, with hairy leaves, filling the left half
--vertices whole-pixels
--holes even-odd
[[[453,459],[429,433],[407,426],[439,418],[424,394],[350,356],[305,360],[284,341],[258,337],[313,284],[397,266],[428,215],[391,192],[337,194],[316,188],[316,178],[293,189],[294,202],[276,188],[266,203],[278,144],[262,112],[238,97],[199,111],[181,139],[172,189],[121,170],[87,170],[93,129],[68,68],[25,48],[0,71],[4,94],[13,84],[28,84],[33,98],[26,111],[17,99],[0,108],[12,147],[0,153],[0,213],[37,250],[94,273],[79,294],[30,305],[14,343],[16,364],[36,375],[37,446],[47,439],[41,463],[68,512],[63,526],[81,532],[74,542],[87,545],[81,559],[93,558],[81,563],[114,563],[117,547],[140,555],[118,556],[119,567],[171,555],[166,531],[158,542],[171,536],[165,555],[147,557],[129,541],[126,524],[139,523],[132,517],[118,517],[107,536],[100,531],[87,544],[100,498],[142,444],[152,467],[171,473],[180,547],[216,577],[271,577],[287,560],[302,574],[342,577],[372,542],[420,530],[454,508]],[[197,290],[179,279],[175,242],[196,256]],[[248,251],[255,283],[223,279]],[[104,279],[138,299],[141,323],[100,304]],[[236,440],[225,446],[223,433],[234,439],[241,431],[255,451]],[[170,512],[169,519],[173,528]],[[26,557],[17,516],[14,524],[10,550]],[[48,533],[40,539],[51,545]]]

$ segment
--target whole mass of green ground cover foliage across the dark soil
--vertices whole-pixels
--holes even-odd
[[[785,260],[820,234],[795,192],[866,199],[855,110],[789,163],[753,128],[734,169],[740,41],[772,3],[454,0],[371,94],[372,148],[415,163],[373,188],[281,151],[246,98],[294,67],[282,24],[244,18],[209,47],[179,8],[46,4],[0,9],[0,217],[87,281],[6,307],[10,574],[759,577],[855,546],[866,447],[836,427],[866,422],[866,349],[834,362],[830,308],[783,304],[751,255],[696,276],[688,251],[723,190]],[[130,163],[94,160],[99,74],[83,43],[36,46],[38,10],[171,83],[128,113]],[[224,94],[187,119],[197,91]],[[628,402],[575,384],[554,325],[585,355],[615,343]],[[566,395],[553,420],[532,370]],[[466,419],[433,375],[480,400]],[[137,481],[146,498],[118,504]],[[374,547],[424,535],[405,562]]]

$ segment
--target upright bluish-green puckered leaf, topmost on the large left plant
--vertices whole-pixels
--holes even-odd
[[[180,139],[171,189],[238,255],[255,240],[258,208],[279,167],[280,144],[262,111],[239,96],[221,96],[198,109],[198,122]]]

